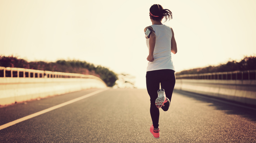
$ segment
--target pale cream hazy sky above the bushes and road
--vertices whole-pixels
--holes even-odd
[[[0,0],[0,55],[82,60],[145,88],[149,8],[170,9],[176,71],[256,54],[255,0]]]

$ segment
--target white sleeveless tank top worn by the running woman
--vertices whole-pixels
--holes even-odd
[[[156,45],[154,49],[154,61],[148,62],[147,71],[170,69],[174,70],[172,54],[171,54],[171,39],[172,31],[169,26],[151,25],[156,33]],[[146,44],[149,50],[149,39],[146,39]]]

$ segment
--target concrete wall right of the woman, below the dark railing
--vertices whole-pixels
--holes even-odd
[[[176,79],[174,88],[256,105],[256,80]]]

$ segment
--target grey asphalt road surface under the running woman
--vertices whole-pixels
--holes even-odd
[[[70,101],[89,89],[0,107],[0,125]],[[108,89],[0,130],[0,143],[252,143],[256,110],[174,92],[167,112],[160,110],[160,138],[152,121],[146,89]]]

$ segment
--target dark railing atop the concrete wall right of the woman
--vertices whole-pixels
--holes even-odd
[[[176,75],[176,79],[256,80],[256,70],[183,74],[183,75]]]

